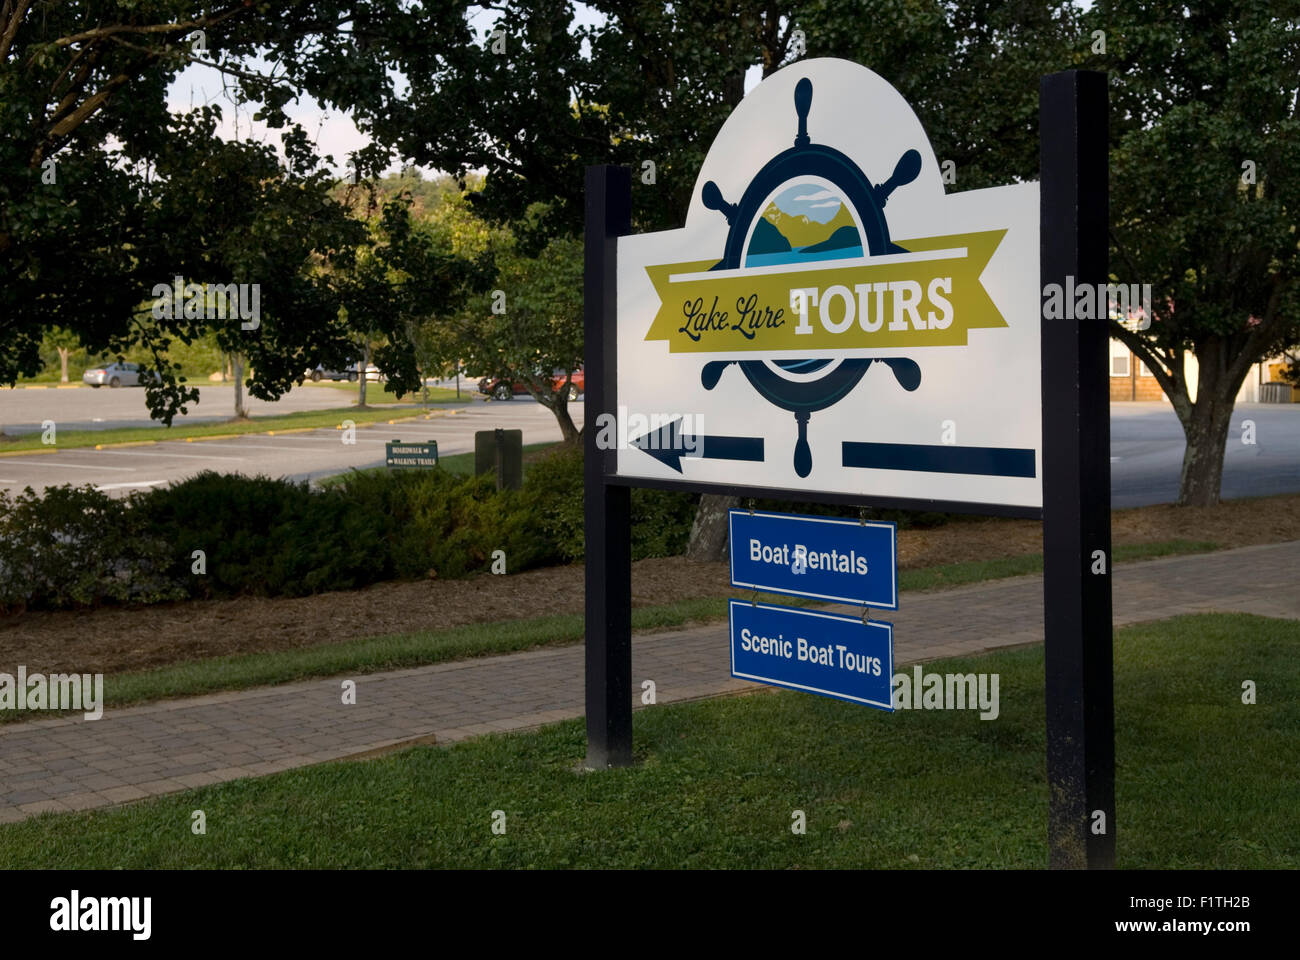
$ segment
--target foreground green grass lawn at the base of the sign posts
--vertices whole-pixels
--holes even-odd
[[[998,674],[998,718],[794,692],[655,706],[629,769],[578,773],[576,719],[43,814],[0,849],[18,869],[1044,866],[1043,648],[927,670]],[[1300,622],[1118,631],[1115,728],[1119,866],[1300,868]]]

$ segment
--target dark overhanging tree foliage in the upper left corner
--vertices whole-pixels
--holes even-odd
[[[354,7],[213,12],[185,0],[120,0],[98,5],[94,18],[82,4],[0,12],[0,36],[14,38],[0,49],[0,384],[35,373],[42,330],[60,324],[94,351],[143,343],[165,376],[147,401],[169,421],[196,394],[161,351],[170,337],[208,329],[205,320],[148,316],[153,286],[176,276],[260,287],[255,329],[217,324],[222,349],[256,371],[255,395],[278,397],[306,367],[350,354],[322,268],[364,226],[330,196],[309,137],[286,122],[304,77],[264,79],[248,64],[264,65],[255,57],[268,48],[308,56],[322,38],[346,48],[338,27]],[[399,4],[365,7],[391,16]],[[238,78],[237,99],[264,100],[268,126],[283,131],[287,169],[272,144],[220,139],[216,107],[169,112],[165,91],[188,62],[195,25],[207,36],[202,59]]]

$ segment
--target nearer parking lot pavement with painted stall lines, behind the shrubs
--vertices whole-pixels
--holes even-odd
[[[399,414],[400,411],[394,411]],[[582,403],[569,405],[573,421],[582,425]],[[159,487],[204,470],[248,476],[286,476],[307,480],[348,468],[384,466],[384,445],[390,440],[438,441],[439,457],[474,449],[474,432],[495,428],[523,429],[524,444],[562,438],[555,416],[538,403],[476,403],[439,410],[429,420],[380,423],[356,428],[355,444],[344,444],[339,431],[248,434],[187,444],[183,440],[148,446],[73,447],[49,454],[0,457],[0,487],[12,492],[60,484],[94,484],[110,492]]]

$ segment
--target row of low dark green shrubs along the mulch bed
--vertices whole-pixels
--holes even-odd
[[[94,488],[0,492],[0,610],[239,594],[306,596],[381,580],[460,578],[581,561],[582,449],[529,466],[521,490],[442,470],[354,471],[342,483],[205,472],[117,500]],[[632,557],[686,548],[698,496],[632,490]],[[852,507],[758,509],[857,516]],[[900,527],[942,514],[868,511]],[[205,572],[192,572],[195,552]]]

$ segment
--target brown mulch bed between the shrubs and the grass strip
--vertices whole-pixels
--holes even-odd
[[[1223,546],[1300,540],[1300,496],[1117,511],[1119,544],[1210,540]],[[900,567],[1041,553],[1035,520],[961,520],[898,533]],[[725,563],[680,557],[633,565],[633,604],[727,597]],[[363,636],[582,611],[582,566],[508,576],[376,584],[313,597],[188,601],[135,609],[26,613],[0,622],[0,671],[116,673]]]

